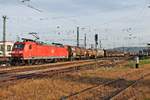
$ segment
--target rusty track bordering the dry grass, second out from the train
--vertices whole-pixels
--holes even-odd
[[[119,63],[119,62],[118,62]],[[115,63],[117,64],[117,63]],[[86,62],[86,63],[79,63],[79,64],[72,64],[72,65],[64,65],[61,67],[54,67],[54,68],[46,68],[42,70],[31,70],[31,71],[23,71],[23,72],[15,72],[15,73],[8,73],[0,75],[0,83],[5,84],[10,81],[16,81],[20,79],[30,79],[30,78],[38,78],[38,77],[45,77],[45,76],[55,76],[59,74],[65,74],[68,72],[74,72],[79,70],[85,69],[93,69],[96,65],[99,66],[106,66],[109,64],[104,63],[101,64],[101,61],[93,61],[93,62]],[[110,64],[112,65],[112,64]],[[113,64],[114,65],[114,64]]]

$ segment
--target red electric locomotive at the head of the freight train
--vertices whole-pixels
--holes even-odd
[[[30,39],[16,42],[12,49],[12,65],[39,64],[55,60],[68,59],[69,53],[61,44],[44,44]]]

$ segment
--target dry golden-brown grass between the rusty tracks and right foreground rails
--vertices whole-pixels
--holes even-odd
[[[149,63],[150,59],[140,60],[141,65]],[[101,67],[56,78],[22,80],[7,88],[0,88],[0,100],[59,100],[62,96],[99,84],[102,80],[113,80],[134,66],[134,61],[129,61],[125,67]]]

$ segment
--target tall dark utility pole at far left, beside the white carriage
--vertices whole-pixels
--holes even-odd
[[[5,49],[6,49],[6,19],[7,17],[6,16],[3,16],[3,56],[4,58],[6,57],[6,52],[5,52]]]

